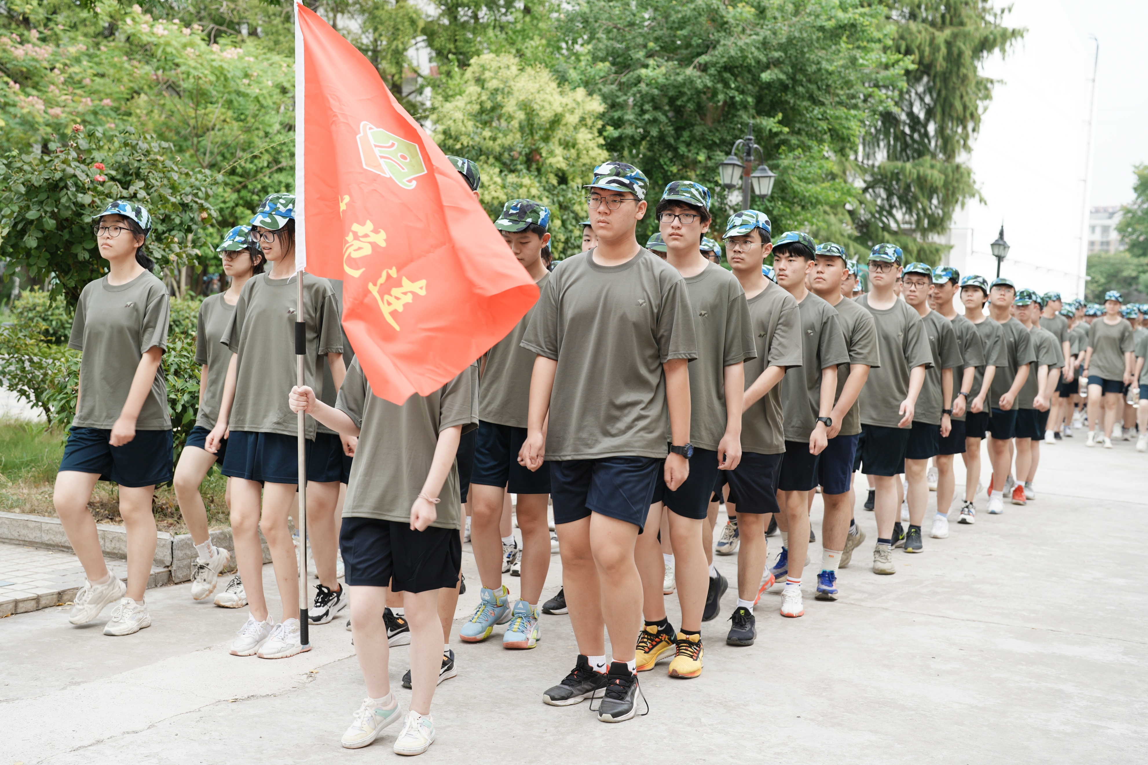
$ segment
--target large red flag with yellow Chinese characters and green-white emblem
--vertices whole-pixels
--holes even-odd
[[[538,289],[371,62],[312,10],[296,10],[307,270],[343,280],[355,354],[375,395],[402,404],[506,336]]]

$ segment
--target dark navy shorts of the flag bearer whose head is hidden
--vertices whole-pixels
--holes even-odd
[[[458,529],[412,531],[408,521],[344,517],[339,552],[352,587],[427,592],[453,587],[463,565]]]

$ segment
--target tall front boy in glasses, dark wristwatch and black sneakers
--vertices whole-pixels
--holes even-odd
[[[647,185],[633,165],[595,167],[588,206],[598,247],[559,263],[522,338],[537,358],[519,459],[530,470],[550,463],[563,585],[579,647],[574,669],[543,701],[565,707],[605,689],[597,710],[604,723],[628,720],[637,709],[642,579],[634,547],[659,471],[668,489],[678,489],[693,452],[687,369],[697,358],[692,311],[682,275],[635,239]],[[613,650],[608,664],[603,626]]]

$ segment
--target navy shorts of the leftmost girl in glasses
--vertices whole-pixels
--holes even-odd
[[[60,461],[60,470],[92,473],[129,489],[171,481],[174,460],[170,430],[137,430],[123,446],[108,443],[111,430],[72,428]]]

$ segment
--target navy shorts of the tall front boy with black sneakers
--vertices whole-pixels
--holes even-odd
[[[664,460],[603,456],[546,465],[550,466],[550,497],[554,505],[556,525],[597,513],[641,529],[653,504],[653,487]]]

